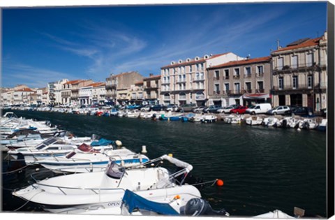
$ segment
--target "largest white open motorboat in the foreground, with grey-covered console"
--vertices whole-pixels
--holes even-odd
[[[170,161],[182,168],[171,174],[166,168],[151,163]],[[37,181],[25,189],[14,191],[13,195],[37,203],[44,210],[54,213],[79,214],[98,209],[109,209],[110,214],[121,214],[122,198],[126,189],[143,198],[161,198],[173,201],[180,198],[200,198],[195,186],[183,184],[193,169],[190,164],[163,155],[158,159],[143,163],[137,168],[122,168],[110,162],[105,172],[61,175]],[[179,178],[179,179],[178,179]]]

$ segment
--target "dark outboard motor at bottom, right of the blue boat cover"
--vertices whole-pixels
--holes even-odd
[[[192,198],[191,200],[188,200],[188,202],[185,205],[184,214],[198,217],[202,215],[208,215],[208,216],[229,216],[229,213],[225,211],[225,209],[216,211],[213,210],[211,205],[206,200],[203,200],[202,198]]]

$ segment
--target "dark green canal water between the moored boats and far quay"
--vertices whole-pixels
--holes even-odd
[[[191,163],[196,177],[204,181],[223,179],[224,185],[207,186],[202,197],[232,216],[248,217],[281,210],[293,214],[294,207],[305,216],[326,216],[326,134],[264,126],[195,124],[144,119],[95,117],[58,112],[14,111],[16,115],[49,120],[77,136],[92,134],[121,140],[124,146],[147,156],[163,154]],[[3,154],[5,157],[6,154]],[[3,160],[3,172],[13,164]],[[11,196],[10,189],[27,186],[29,175],[2,175],[3,211],[14,211],[24,201]],[[43,212],[32,204],[20,211]]]

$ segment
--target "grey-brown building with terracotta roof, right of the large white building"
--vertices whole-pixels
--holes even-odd
[[[271,57],[229,61],[208,68],[209,105],[270,102]]]

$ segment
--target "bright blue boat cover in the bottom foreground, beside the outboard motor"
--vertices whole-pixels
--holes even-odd
[[[135,209],[148,210],[151,212],[156,212],[158,214],[165,215],[179,215],[179,213],[174,210],[168,203],[157,203],[142,196],[138,196],[133,191],[126,189],[124,193],[124,198],[122,198],[122,203],[128,208],[128,212],[132,213]]]

